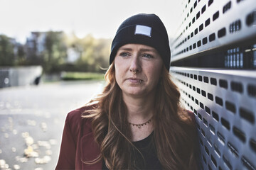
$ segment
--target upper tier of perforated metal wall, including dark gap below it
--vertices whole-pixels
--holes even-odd
[[[206,55],[211,58],[214,54],[219,62],[197,63],[197,66],[256,68],[252,54],[256,50],[255,0],[186,0],[183,6],[182,23],[171,44],[171,60],[175,65],[192,61],[185,64],[193,67],[198,60],[193,62],[192,57],[203,56],[200,59],[204,60]]]

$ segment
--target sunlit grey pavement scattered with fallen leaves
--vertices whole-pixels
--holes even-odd
[[[55,169],[65,116],[103,86],[60,81],[0,89],[0,169]]]

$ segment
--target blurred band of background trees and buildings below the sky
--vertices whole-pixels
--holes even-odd
[[[32,32],[26,45],[0,35],[0,66],[41,65],[46,73],[105,72],[109,66],[110,39],[92,35],[78,38],[62,31]],[[68,50],[76,54],[70,61]]]

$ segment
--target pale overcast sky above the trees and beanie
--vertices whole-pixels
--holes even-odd
[[[181,22],[177,0],[0,0],[0,34],[26,42],[31,31],[75,33],[82,38],[114,38],[119,25],[137,13],[156,13],[169,38]]]

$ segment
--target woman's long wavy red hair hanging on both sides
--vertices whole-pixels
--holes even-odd
[[[134,169],[132,152],[136,148],[129,140],[131,131],[127,122],[127,108],[114,75],[114,64],[111,64],[105,74],[105,89],[88,103],[97,102],[97,107],[85,111],[82,116],[92,118],[92,131],[101,152],[97,159],[85,164],[104,159],[109,169]],[[164,169],[195,169],[195,125],[181,107],[180,93],[165,67],[161,75],[156,87],[157,102],[153,115],[157,157]]]

